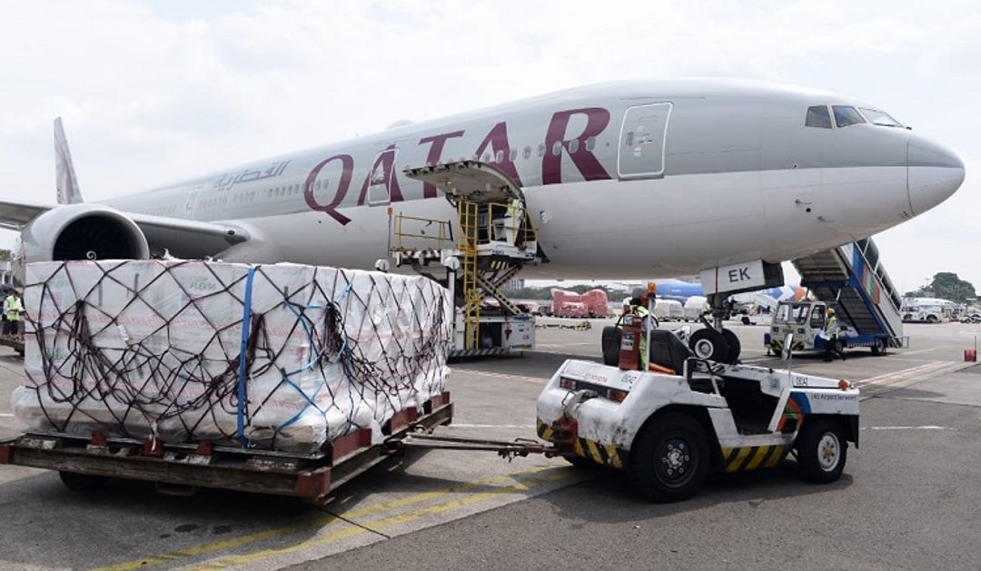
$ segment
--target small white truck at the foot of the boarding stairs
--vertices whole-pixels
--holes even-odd
[[[794,335],[795,351],[824,351],[829,342],[824,335],[829,307],[823,301],[781,301],[773,314],[770,331],[763,334],[767,354],[780,354],[787,334]],[[886,334],[859,334],[842,316],[839,323],[838,343],[842,349],[870,347],[873,354],[884,355],[890,347],[890,337]]]

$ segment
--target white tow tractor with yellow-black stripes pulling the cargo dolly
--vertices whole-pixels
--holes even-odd
[[[772,467],[792,452],[814,482],[841,476],[848,442],[858,445],[848,382],[715,363],[669,332],[650,335],[658,372],[566,361],[539,396],[539,436],[573,464],[626,470],[655,501],[692,496],[709,471]]]

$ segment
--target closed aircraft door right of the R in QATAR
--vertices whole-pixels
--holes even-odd
[[[655,179],[664,176],[670,103],[630,107],[623,116],[617,153],[620,179]]]

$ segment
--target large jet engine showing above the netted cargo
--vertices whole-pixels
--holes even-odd
[[[100,204],[69,204],[41,214],[21,232],[14,271],[22,282],[27,262],[146,259],[146,236],[128,216]]]

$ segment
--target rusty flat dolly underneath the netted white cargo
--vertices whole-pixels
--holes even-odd
[[[367,429],[331,441],[323,451],[297,454],[212,444],[164,443],[68,434],[27,433],[0,441],[0,464],[57,470],[71,490],[98,488],[109,478],[154,482],[161,493],[186,495],[195,488],[294,496],[329,501],[336,489],[382,462],[414,432],[449,424],[449,392],[426,402],[420,414],[410,408],[384,427],[387,439],[372,443]]]

